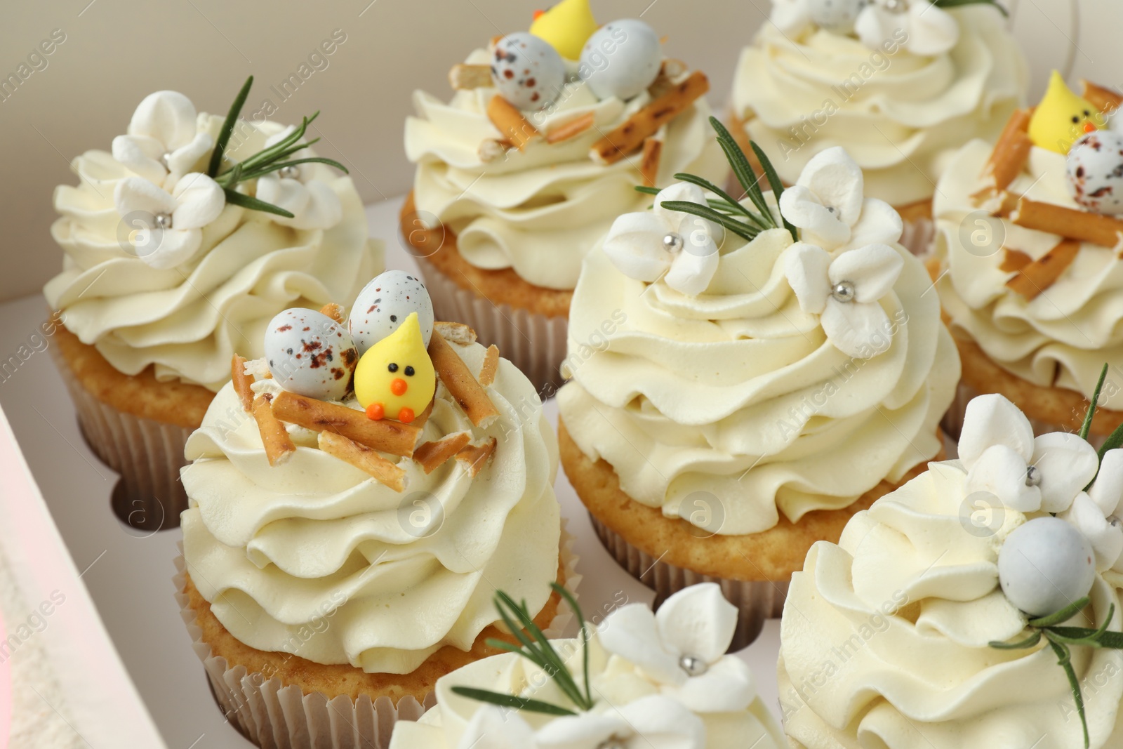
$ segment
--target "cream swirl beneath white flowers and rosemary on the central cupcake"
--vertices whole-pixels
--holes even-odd
[[[920,261],[894,245],[889,328],[871,358],[850,358],[800,309],[784,275],[792,244],[783,229],[727,235],[696,298],[628,278],[600,249],[586,258],[558,405],[633,500],[711,533],[755,533],[779,512],[844,508],[939,451],[959,359]],[[699,496],[723,518],[700,517]]]

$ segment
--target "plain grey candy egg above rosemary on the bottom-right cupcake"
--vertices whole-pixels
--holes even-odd
[[[1084,597],[1095,577],[1092,545],[1060,518],[1028,521],[998,551],[1002,592],[1031,616],[1048,616]]]

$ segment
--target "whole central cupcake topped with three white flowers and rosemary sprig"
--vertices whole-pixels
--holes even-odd
[[[787,190],[765,157],[763,192],[713,125],[749,199],[691,177],[613,223],[574,293],[559,431],[610,552],[657,602],[720,583],[740,647],[813,542],[940,453],[959,364],[901,218],[844,150]]]

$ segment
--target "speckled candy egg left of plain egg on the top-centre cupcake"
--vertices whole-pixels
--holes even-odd
[[[538,111],[553,104],[565,79],[565,63],[549,42],[518,31],[495,43],[492,82],[519,109]]]

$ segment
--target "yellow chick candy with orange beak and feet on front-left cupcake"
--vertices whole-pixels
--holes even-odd
[[[368,348],[355,367],[355,398],[371,419],[410,423],[429,407],[436,390],[437,373],[417,312]]]

